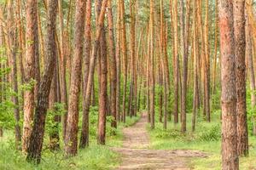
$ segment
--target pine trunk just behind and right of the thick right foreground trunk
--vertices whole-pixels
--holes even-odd
[[[248,155],[247,134],[247,93],[245,63],[245,0],[234,0],[234,31],[236,44],[236,114],[237,114],[237,152]]]

